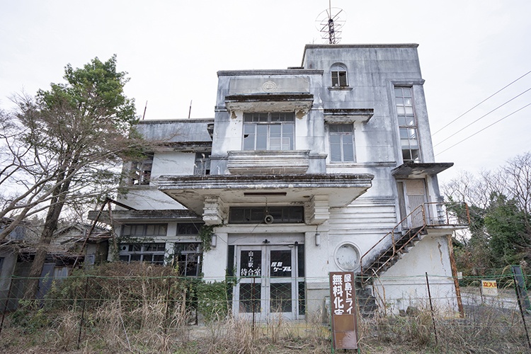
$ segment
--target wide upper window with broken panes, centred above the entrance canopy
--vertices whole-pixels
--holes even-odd
[[[292,150],[295,113],[244,113],[244,150]]]

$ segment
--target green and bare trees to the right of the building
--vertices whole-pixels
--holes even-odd
[[[499,275],[511,264],[530,273],[531,153],[480,176],[462,173],[442,189],[449,209],[462,219],[466,211],[452,202],[469,204],[469,230],[454,237],[457,268],[464,275],[490,275],[488,269]]]

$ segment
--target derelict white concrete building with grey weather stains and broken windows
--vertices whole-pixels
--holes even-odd
[[[218,72],[213,119],[139,122],[161,143],[126,166],[120,261],[235,276],[237,316],[319,315],[341,270],[367,311],[425,301],[418,280],[394,281],[425,273],[457,310],[449,235],[464,225],[440,195],[452,164],[435,162],[417,47],[306,45],[300,67]]]

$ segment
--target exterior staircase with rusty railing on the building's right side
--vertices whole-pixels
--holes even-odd
[[[360,258],[361,268],[356,274],[355,285],[358,306],[362,316],[373,316],[378,309],[376,298],[372,295],[370,285],[381,273],[384,273],[399,261],[404,256],[404,253],[408,253],[413,246],[418,244],[423,239],[423,236],[428,234],[430,228],[443,227],[450,228],[453,231],[454,228],[467,227],[469,224],[468,207],[465,203],[459,203],[457,207],[466,211],[465,217],[451,216],[448,213],[448,208],[446,208],[446,217],[439,216],[437,219],[430,219],[428,217],[430,215],[429,208],[434,205],[438,211],[436,214],[443,214],[440,212],[442,211],[440,203],[419,205]],[[456,210],[457,208],[452,206],[451,210]]]

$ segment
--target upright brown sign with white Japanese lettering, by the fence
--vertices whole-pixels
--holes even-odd
[[[330,303],[333,348],[358,349],[353,272],[330,273]]]

